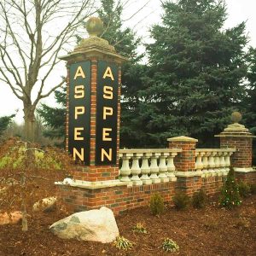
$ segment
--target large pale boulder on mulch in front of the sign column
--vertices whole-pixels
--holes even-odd
[[[107,207],[74,213],[55,222],[49,229],[63,239],[74,238],[102,243],[112,242],[119,236],[119,228],[113,212]]]

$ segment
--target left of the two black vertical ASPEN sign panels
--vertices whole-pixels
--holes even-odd
[[[68,151],[90,164],[90,61],[70,66]]]

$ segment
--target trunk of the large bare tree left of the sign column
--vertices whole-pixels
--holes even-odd
[[[26,141],[35,141],[35,109],[31,104],[24,103],[24,136]]]

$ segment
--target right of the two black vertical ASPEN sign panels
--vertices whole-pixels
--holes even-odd
[[[98,62],[96,96],[96,165],[116,165],[118,66]]]

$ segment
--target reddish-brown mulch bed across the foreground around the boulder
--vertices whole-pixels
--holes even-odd
[[[32,214],[26,233],[20,224],[0,226],[0,255],[256,255],[256,195],[233,211],[212,203],[179,212],[166,206],[160,217],[152,216],[148,207],[126,212],[116,220],[120,236],[135,242],[128,251],[113,244],[59,239],[48,227],[64,217],[67,213],[61,211]],[[143,223],[148,233],[134,233],[137,223]],[[179,253],[160,248],[166,237],[177,241]]]

